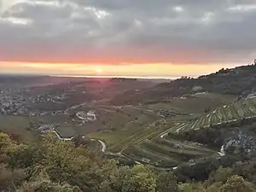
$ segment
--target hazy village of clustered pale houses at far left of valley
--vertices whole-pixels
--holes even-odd
[[[67,114],[66,108],[61,110],[44,109],[45,103],[61,104],[66,98],[66,92],[49,90],[37,93],[29,89],[0,88],[0,114],[15,116],[43,116],[46,114]]]

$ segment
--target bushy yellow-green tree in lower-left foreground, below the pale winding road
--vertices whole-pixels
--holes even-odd
[[[63,182],[94,165],[90,158],[81,154],[79,148],[74,148],[72,142],[63,142],[49,135],[43,137],[42,145],[47,149],[40,163],[47,167],[54,182]]]

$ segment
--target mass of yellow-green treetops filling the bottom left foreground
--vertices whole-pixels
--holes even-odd
[[[52,135],[36,143],[16,143],[2,133],[0,138],[6,163],[0,172],[3,191],[155,192],[177,188],[172,173],[160,175],[153,167],[143,165],[119,166],[115,160],[102,159],[86,143],[78,146]]]

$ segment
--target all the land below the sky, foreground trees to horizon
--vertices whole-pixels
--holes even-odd
[[[255,70],[160,84],[9,77],[0,190],[230,192],[235,180],[253,191]]]

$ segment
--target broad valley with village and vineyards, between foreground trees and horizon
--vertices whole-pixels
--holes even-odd
[[[222,79],[223,72],[214,76]],[[230,76],[234,71],[226,72]],[[206,78],[212,81],[212,74]],[[38,82],[52,78],[43,79]],[[254,134],[253,91],[244,96],[214,92],[202,86],[201,78],[198,84],[196,79],[54,79],[57,83],[40,86],[27,79],[14,79],[8,87],[0,84],[0,129],[22,140],[46,133],[64,141],[80,137],[95,142],[108,158],[166,170],[223,157],[228,151],[225,143],[234,140],[231,132],[237,127],[246,130],[242,134]],[[175,84],[178,90],[169,93],[168,87]]]

